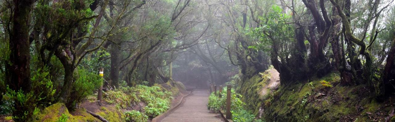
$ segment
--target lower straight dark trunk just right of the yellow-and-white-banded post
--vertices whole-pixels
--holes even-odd
[[[120,46],[117,44],[111,44],[111,66],[110,66],[110,79],[111,87],[119,88],[119,54]]]

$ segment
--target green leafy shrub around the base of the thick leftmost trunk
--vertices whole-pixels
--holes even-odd
[[[37,114],[37,107],[46,107],[54,101],[55,89],[46,67],[33,71],[31,81],[31,91],[13,91],[7,87],[7,92],[3,96],[2,101],[7,102],[8,105],[13,103],[19,106],[11,109],[15,121],[30,121],[32,116]]]

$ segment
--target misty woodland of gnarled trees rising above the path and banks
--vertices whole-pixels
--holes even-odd
[[[75,109],[102,85],[101,67],[107,89],[242,86],[272,65],[281,85],[339,72],[341,85],[367,84],[378,99],[395,92],[393,0],[0,3],[0,98],[15,121],[56,102]]]

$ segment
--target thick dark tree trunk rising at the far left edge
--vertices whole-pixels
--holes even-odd
[[[14,15],[12,35],[10,36],[9,48],[11,65],[8,65],[6,79],[9,88],[17,91],[30,90],[30,43],[29,43],[29,14],[32,0],[14,0]]]

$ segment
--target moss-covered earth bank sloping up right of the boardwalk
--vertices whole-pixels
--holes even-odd
[[[333,87],[323,85],[322,80]],[[331,73],[323,78],[281,86],[272,93],[271,98],[265,98],[268,99],[265,104],[258,106],[263,106],[261,117],[269,122],[367,122],[390,119],[393,98],[377,102],[374,93],[369,91],[365,85],[342,86],[339,74]]]

